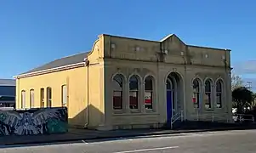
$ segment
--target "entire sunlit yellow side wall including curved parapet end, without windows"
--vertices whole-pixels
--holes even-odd
[[[104,65],[102,39],[94,42],[88,54],[89,65],[65,71],[51,72],[16,80],[16,107],[21,108],[21,91],[26,91],[26,108],[30,108],[30,90],[34,89],[35,107],[40,107],[40,89],[44,88],[44,106],[47,106],[47,88],[52,88],[52,106],[61,104],[61,86],[67,85],[69,124],[97,128],[105,122]],[[86,57],[85,57],[86,58]]]

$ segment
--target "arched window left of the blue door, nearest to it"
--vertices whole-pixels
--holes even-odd
[[[145,78],[145,109],[153,109],[153,77]]]

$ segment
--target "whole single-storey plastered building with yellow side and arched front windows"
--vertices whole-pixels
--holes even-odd
[[[230,71],[229,49],[102,34],[88,53],[16,76],[16,106],[66,106],[70,125],[102,130],[231,122]]]

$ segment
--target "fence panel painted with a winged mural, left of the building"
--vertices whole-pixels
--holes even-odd
[[[66,133],[66,107],[0,111],[0,136]]]

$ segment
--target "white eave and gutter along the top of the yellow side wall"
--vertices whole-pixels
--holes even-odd
[[[54,68],[43,70],[43,71],[33,71],[31,73],[25,73],[25,74],[21,74],[21,75],[18,75],[18,76],[14,76],[14,78],[19,79],[19,78],[24,78],[24,77],[38,76],[38,75],[43,75],[43,74],[47,74],[47,73],[50,73],[50,72],[74,69],[74,68],[77,68],[77,67],[82,67],[84,65],[85,65],[85,62],[83,61],[83,62],[71,64],[71,65],[63,65],[63,66],[59,66],[59,67],[54,67]]]

